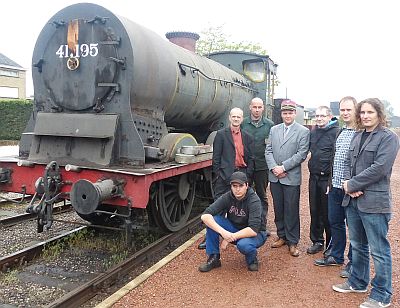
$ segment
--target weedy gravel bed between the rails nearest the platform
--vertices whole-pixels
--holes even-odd
[[[112,232],[81,234],[71,247],[57,244],[28,266],[0,273],[0,307],[44,307],[132,252]]]

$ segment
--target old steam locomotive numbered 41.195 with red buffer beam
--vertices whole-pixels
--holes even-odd
[[[193,46],[95,4],[71,5],[46,23],[19,156],[0,158],[0,191],[34,196],[27,211],[37,213],[38,232],[62,200],[92,224],[118,218],[129,233],[146,216],[173,232],[195,196],[211,197],[213,132],[231,108],[248,111],[252,97],[273,105],[277,65],[248,52],[202,57]]]

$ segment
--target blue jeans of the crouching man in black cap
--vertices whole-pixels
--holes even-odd
[[[229,232],[239,231],[227,218],[220,215],[214,216],[215,222]],[[206,253],[207,255],[219,254],[219,233],[207,227]],[[257,258],[257,248],[261,247],[267,239],[267,233],[260,231],[257,236],[246,237],[236,241],[236,247],[245,255],[247,265],[252,264]]]

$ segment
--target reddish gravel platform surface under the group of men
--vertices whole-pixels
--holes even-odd
[[[306,164],[303,164],[303,175],[303,183],[307,183]],[[400,155],[392,175],[394,215],[389,232],[393,256],[392,307],[400,307],[399,191]],[[197,268],[206,256],[196,244],[113,307],[358,307],[367,295],[334,292],[332,285],[344,281],[339,277],[341,268],[314,266],[314,259],[322,253],[306,253],[310,245],[306,184],[302,185],[300,203],[301,255],[298,258],[291,257],[287,247],[271,249],[273,235],[259,251],[258,272],[247,271],[243,257],[230,246],[222,254],[221,268],[200,273]],[[272,206],[270,209],[268,226],[274,232]]]

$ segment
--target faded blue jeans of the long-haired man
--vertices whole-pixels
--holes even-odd
[[[391,214],[363,213],[357,200],[352,199],[346,209],[349,237],[353,247],[352,272],[348,279],[356,289],[369,283],[369,251],[374,260],[375,277],[371,281],[370,298],[390,303],[392,298],[392,255],[387,239]]]

